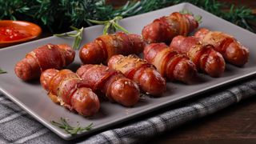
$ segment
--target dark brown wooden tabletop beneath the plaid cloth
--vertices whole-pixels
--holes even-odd
[[[248,6],[254,9],[255,0],[221,0],[236,6]],[[114,1],[121,6],[125,1]],[[256,95],[255,95],[256,96]],[[205,118],[186,123],[165,134],[149,139],[146,143],[256,143],[256,97],[246,99]]]

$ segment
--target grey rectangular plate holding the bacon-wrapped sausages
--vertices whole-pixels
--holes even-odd
[[[158,110],[163,106],[169,106],[170,104],[185,98],[192,98],[197,94],[202,94],[202,92],[213,90],[220,86],[230,84],[230,82],[235,82],[256,74],[256,49],[254,47],[256,35],[189,3],[182,3],[162,10],[125,18],[122,19],[120,24],[131,33],[141,34],[143,26],[152,22],[155,18],[183,9],[190,10],[194,14],[202,15],[202,23],[200,24],[200,27],[206,27],[210,30],[220,30],[232,34],[242,42],[244,46],[248,47],[250,49],[250,61],[246,66],[239,68],[227,65],[226,71],[221,78],[210,78],[209,76],[202,74],[201,77],[204,78],[205,81],[190,86],[181,83],[168,82],[167,92],[162,98],[146,97],[145,100],[138,102],[138,105],[132,108],[126,108],[110,102],[102,102],[101,110],[98,114],[93,118],[84,118],[51,102],[50,98],[47,97],[46,91],[42,89],[39,82],[22,82],[14,74],[14,66],[16,62],[24,58],[26,53],[34,48],[45,45],[46,43],[68,43],[72,45],[73,42],[71,38],[50,37],[0,50],[0,67],[2,70],[8,72],[7,74],[0,74],[0,90],[44,126],[47,126],[50,130],[54,131],[54,133],[64,139],[72,139],[102,130],[103,128],[113,126],[114,124],[138,117],[141,114],[149,113],[152,110]],[[82,45],[94,40],[94,38],[97,38],[101,34],[102,26],[91,26],[86,28],[83,35]],[[78,58],[77,51],[75,62],[71,67],[81,64],[82,62]],[[68,118],[71,125],[76,125],[77,122],[80,122],[81,126],[86,126],[90,122],[93,122],[94,128],[90,131],[71,136],[50,124],[50,121],[59,121],[59,118],[61,117]]]

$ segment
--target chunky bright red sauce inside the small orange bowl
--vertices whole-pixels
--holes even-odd
[[[19,40],[29,36],[30,34],[21,33],[13,26],[0,27],[0,42]]]

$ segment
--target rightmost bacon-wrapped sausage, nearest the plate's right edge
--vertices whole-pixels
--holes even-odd
[[[203,45],[213,45],[226,62],[236,66],[243,66],[248,62],[249,50],[229,34],[203,28],[198,30],[194,36],[199,38]]]

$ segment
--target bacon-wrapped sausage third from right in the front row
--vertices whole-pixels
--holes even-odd
[[[151,43],[146,46],[144,58],[171,81],[191,83],[197,73],[194,63],[186,55],[171,50],[165,43]]]

